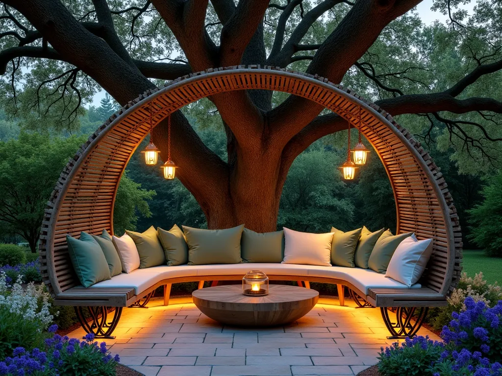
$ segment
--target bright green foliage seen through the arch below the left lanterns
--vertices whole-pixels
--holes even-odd
[[[155,191],[141,189],[141,184],[127,175],[122,175],[113,208],[113,232],[122,235],[127,230],[136,230],[138,213],[146,218],[152,216],[147,201],[152,200]]]

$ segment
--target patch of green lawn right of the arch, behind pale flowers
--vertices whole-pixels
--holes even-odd
[[[498,284],[502,285],[502,258],[488,257],[481,250],[464,250],[463,256],[463,271],[469,277],[483,272],[489,284],[498,281]]]

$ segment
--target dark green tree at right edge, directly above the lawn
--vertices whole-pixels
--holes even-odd
[[[502,257],[502,172],[488,179],[481,195],[483,202],[469,210],[469,237],[488,255]]]

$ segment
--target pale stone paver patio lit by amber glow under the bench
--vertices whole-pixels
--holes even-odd
[[[357,374],[377,362],[381,346],[395,342],[386,338],[380,309],[319,302],[290,325],[245,329],[220,325],[192,303],[152,299],[148,309],[125,308],[116,339],[105,341],[121,363],[147,376]],[[439,339],[425,328],[419,334]]]

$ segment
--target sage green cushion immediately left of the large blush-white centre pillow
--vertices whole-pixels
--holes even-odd
[[[284,231],[262,234],[244,229],[240,239],[240,257],[244,262],[282,262]]]

